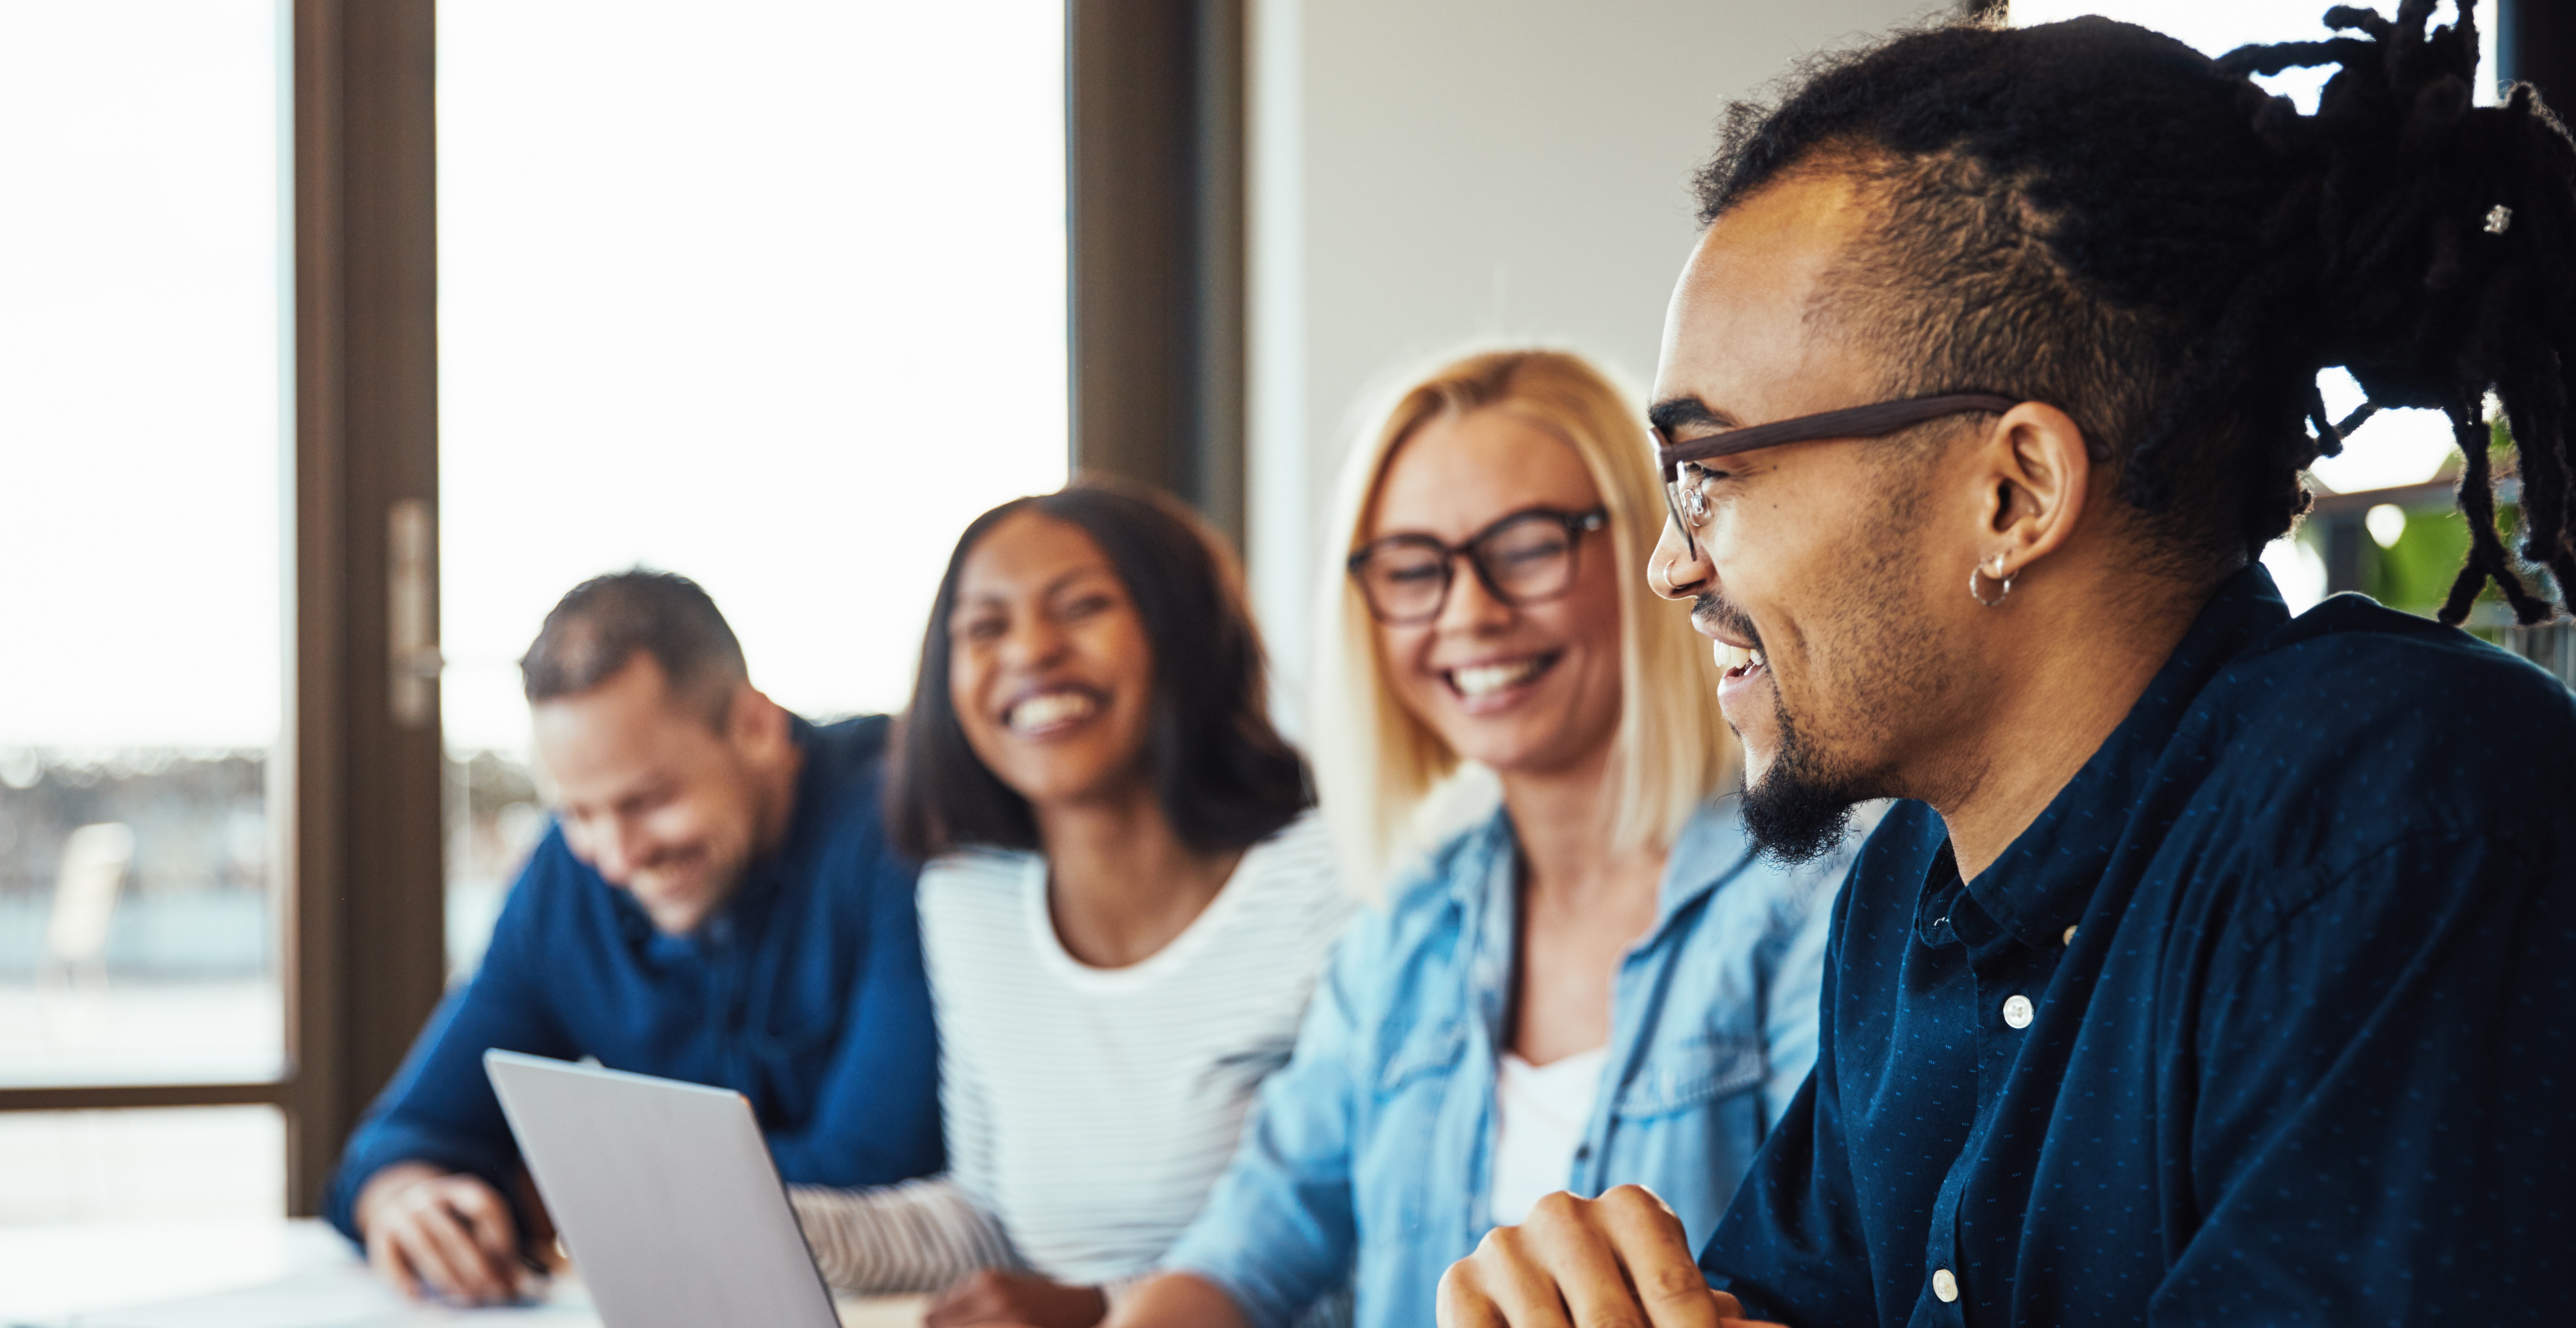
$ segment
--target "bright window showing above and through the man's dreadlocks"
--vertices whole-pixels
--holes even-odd
[[[2434,23],[2450,23],[2458,13],[2455,5],[2458,0],[2439,5]],[[2326,8],[2326,0],[2012,0],[2012,23],[2056,23],[2061,18],[2099,13],[2172,34],[2208,54],[2226,54],[2251,44],[2326,39],[2331,36],[2324,26]],[[2365,8],[2396,15],[2398,0],[2375,0]],[[2478,21],[2478,67],[2488,75],[2476,93],[2481,106],[2491,106],[2496,101],[2496,0],[2473,0],[2470,8]],[[2329,75],[2331,70],[2290,70],[2259,83],[2287,95],[2303,111],[2316,111],[2316,95]],[[2318,384],[2324,387],[2326,407],[2336,415],[2362,405],[2362,389],[2342,369],[2326,371]],[[2458,449],[2450,441],[2450,423],[2442,413],[2391,410],[2357,428],[2342,456],[2321,456],[2308,474],[2326,493],[2362,493],[2434,480],[2437,474],[2447,474],[2445,464],[2455,459]],[[2370,539],[2380,544],[2375,562],[2388,562],[2391,575],[2370,588],[2401,609],[2427,609],[2406,603],[2406,598],[2450,583],[2450,572],[2460,567],[2460,552],[2468,549],[2468,529],[2450,511],[2447,498],[2419,503],[2414,516],[2421,521],[2414,539],[2421,547],[2396,549],[2409,513],[2401,513],[2396,505],[2375,511],[2378,518],[2370,529]],[[2383,539],[2383,531],[2391,529],[2391,516],[2398,534]],[[2416,575],[2396,575],[2398,570],[2414,570],[2414,565],[2421,565]],[[2275,542],[2264,552],[2264,567],[2272,570],[2293,611],[2316,603],[2326,593],[2326,560],[2318,549],[2316,523],[2311,521],[2293,539]]]

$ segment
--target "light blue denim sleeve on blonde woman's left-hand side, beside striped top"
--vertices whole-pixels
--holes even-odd
[[[1255,1328],[1288,1328],[1337,1289],[1358,1253],[1350,1158],[1360,1127],[1358,1057],[1373,975],[1386,972],[1386,915],[1363,913],[1334,944],[1306,1006],[1296,1055],[1262,1083],[1234,1160],[1162,1258],[1234,1300]]]

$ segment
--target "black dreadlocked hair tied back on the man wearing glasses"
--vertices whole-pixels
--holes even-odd
[[[2540,95],[2473,106],[2468,5],[2336,5],[2329,41],[2208,59],[2105,18],[1947,26],[1808,67],[1728,111],[1700,217],[1798,170],[1870,191],[1860,250],[1821,289],[1891,395],[2004,392],[2066,410],[2154,544],[2233,567],[2308,508],[2300,472],[2380,407],[2434,407],[2465,454],[2458,624],[2494,580],[2483,402],[2522,480],[2522,557],[2576,593],[2576,144]],[[2249,75],[2336,67],[2313,116]],[[2336,423],[2316,374],[2370,397]]]

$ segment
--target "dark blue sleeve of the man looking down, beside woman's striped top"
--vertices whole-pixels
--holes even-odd
[[[788,1184],[881,1186],[948,1166],[914,869],[878,835],[850,869],[871,895],[866,967],[814,1114],[801,1129],[770,1132],[770,1158]]]

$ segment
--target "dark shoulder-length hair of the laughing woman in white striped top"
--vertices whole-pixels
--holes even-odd
[[[886,789],[894,843],[914,859],[969,846],[1043,848],[1028,799],[966,745],[948,699],[948,619],[966,557],[1020,513],[1082,529],[1136,603],[1154,650],[1146,768],[1172,833],[1200,854],[1249,848],[1311,807],[1306,761],[1270,725],[1262,640],[1234,552],[1172,498],[1082,480],[987,511],[948,554],[922,632],[912,707],[894,737]]]

